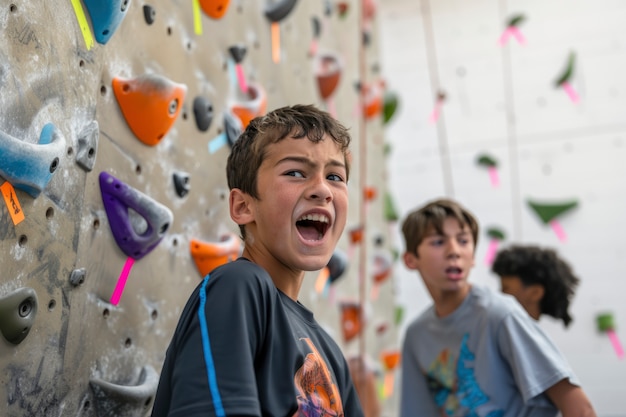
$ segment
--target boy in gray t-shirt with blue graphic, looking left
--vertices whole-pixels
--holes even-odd
[[[469,284],[478,229],[448,199],[404,220],[404,262],[433,305],[405,334],[400,417],[595,417],[567,361],[519,303]]]

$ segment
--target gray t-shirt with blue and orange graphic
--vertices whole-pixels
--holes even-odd
[[[544,391],[569,364],[511,296],[472,286],[452,314],[429,307],[405,334],[401,417],[554,417]]]

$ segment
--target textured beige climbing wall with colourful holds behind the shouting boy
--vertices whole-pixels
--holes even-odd
[[[381,353],[397,349],[384,143],[395,106],[375,11],[3,2],[0,414],[149,413],[188,295],[241,250],[230,145],[252,117],[296,103],[331,112],[354,140],[346,233],[301,302],[347,356],[368,358],[393,407]]]

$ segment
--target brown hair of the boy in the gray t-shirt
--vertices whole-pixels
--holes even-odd
[[[402,223],[402,234],[406,243],[406,251],[417,255],[417,248],[426,237],[430,228],[443,234],[443,223],[446,218],[456,219],[461,226],[467,226],[478,244],[478,221],[472,213],[451,199],[438,199],[412,211]]]

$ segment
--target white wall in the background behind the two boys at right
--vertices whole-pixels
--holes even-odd
[[[626,416],[626,360],[618,360],[596,315],[614,314],[626,343],[626,40],[623,0],[384,0],[378,3],[383,74],[400,93],[401,108],[386,129],[390,191],[401,217],[439,196],[461,201],[483,231],[506,232],[504,245],[555,248],[581,285],[565,330],[542,319],[571,362],[599,416]],[[524,46],[498,39],[507,20],[522,13]],[[429,29],[432,28],[432,30]],[[553,83],[576,52],[573,103]],[[429,123],[438,90],[447,94]],[[475,160],[499,162],[500,185]],[[559,218],[562,241],[529,209],[528,199],[577,200]],[[399,234],[396,245],[403,243]],[[476,253],[474,283],[498,288]],[[430,298],[420,278],[396,268],[403,328]]]

